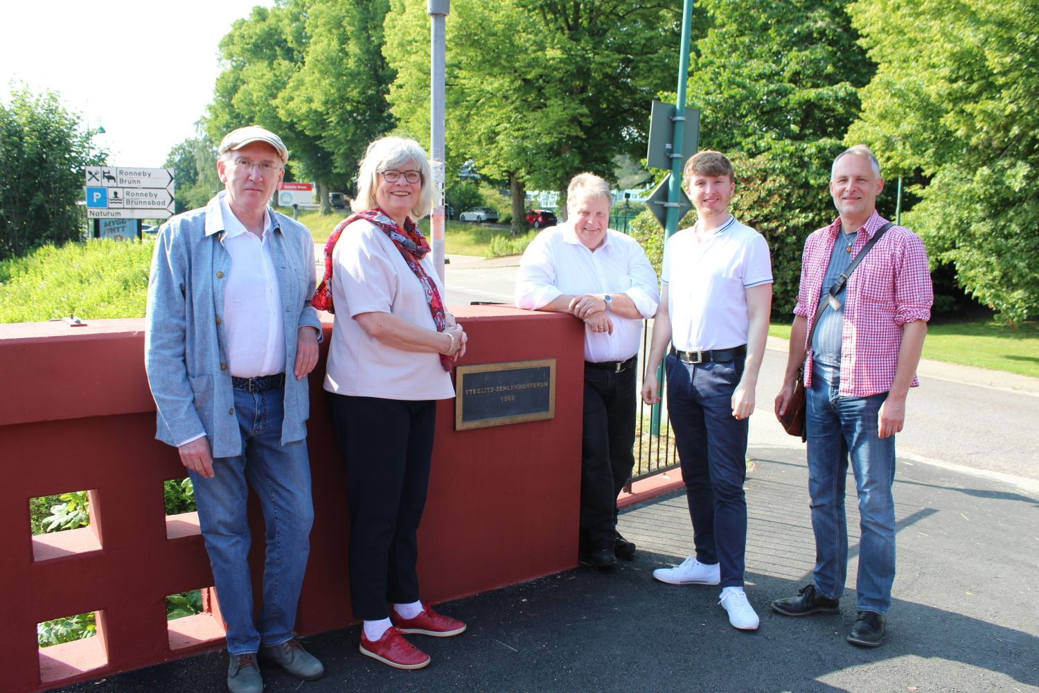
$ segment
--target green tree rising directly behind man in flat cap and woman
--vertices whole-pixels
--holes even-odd
[[[255,7],[220,42],[227,69],[216,81],[207,131],[214,141],[261,125],[289,148],[291,177],[345,189],[364,148],[390,127],[381,57],[389,0],[277,0]]]

